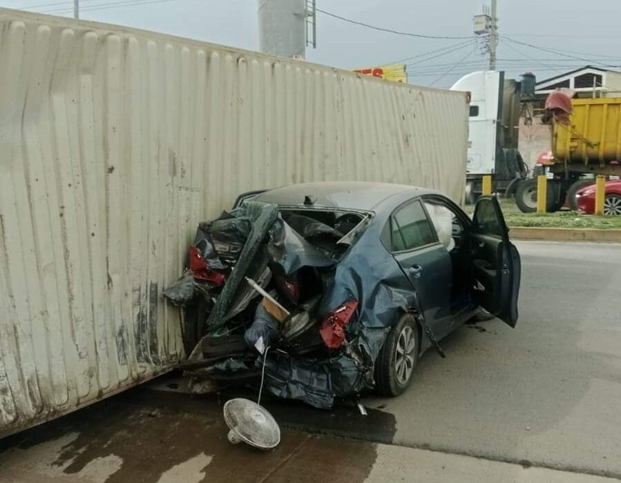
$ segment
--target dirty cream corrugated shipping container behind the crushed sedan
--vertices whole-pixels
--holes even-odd
[[[184,357],[160,293],[238,193],[463,197],[463,93],[12,10],[0,29],[0,435]]]

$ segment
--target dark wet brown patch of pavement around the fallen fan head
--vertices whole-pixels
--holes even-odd
[[[394,417],[381,411],[266,402],[283,426],[280,445],[265,452],[233,446],[224,400],[136,388],[0,440],[0,482],[356,483],[369,475],[376,444],[300,430],[386,442],[394,435]]]

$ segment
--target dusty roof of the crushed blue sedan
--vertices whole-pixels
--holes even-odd
[[[305,197],[309,197],[313,201],[312,206],[372,211],[386,199],[406,193],[413,197],[437,194],[437,191],[370,181],[319,181],[283,186],[266,191],[254,199],[280,206],[309,206],[304,203]]]

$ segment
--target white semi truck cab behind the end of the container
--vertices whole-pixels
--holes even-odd
[[[493,176],[495,193],[511,196],[528,176],[528,166],[517,148],[522,99],[535,92],[535,76],[506,79],[503,71],[472,72],[451,90],[470,92],[466,203],[482,192],[482,179]]]

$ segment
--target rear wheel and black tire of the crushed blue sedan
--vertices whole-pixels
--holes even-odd
[[[397,350],[403,348],[404,334],[409,333],[414,341],[414,347],[408,349],[411,360],[408,365],[409,371],[405,375],[404,371],[397,363]],[[414,370],[416,369],[419,359],[421,347],[421,337],[419,335],[418,326],[414,315],[405,314],[399,319],[399,322],[390,329],[388,337],[375,362],[375,384],[376,391],[385,396],[398,396],[410,386],[414,378]],[[411,349],[411,350],[410,350]]]

